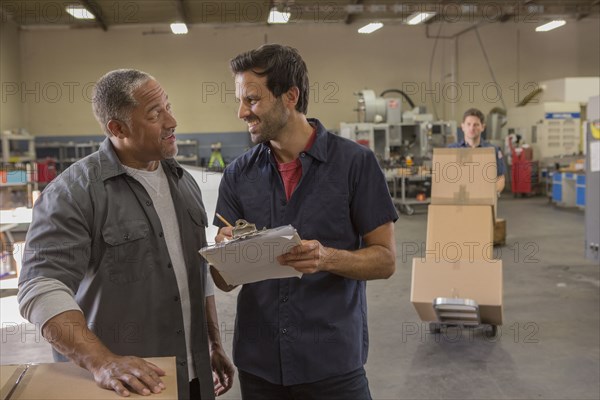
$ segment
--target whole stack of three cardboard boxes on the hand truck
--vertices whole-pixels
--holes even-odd
[[[439,322],[435,298],[474,300],[481,323],[502,325],[494,149],[434,149],[431,183],[425,258],[413,259],[411,302],[421,320]]]

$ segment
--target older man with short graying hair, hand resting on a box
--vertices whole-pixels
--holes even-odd
[[[35,204],[21,313],[57,360],[103,388],[159,393],[165,372],[138,357],[175,356],[180,398],[212,399],[231,387],[234,367],[197,253],[206,245],[202,195],[173,159],[167,94],[144,72],[116,70],[96,84],[92,107],[107,138]]]

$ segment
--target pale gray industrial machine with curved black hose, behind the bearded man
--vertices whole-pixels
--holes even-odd
[[[411,108],[403,111],[402,98],[383,97],[392,92],[404,96]],[[434,121],[400,90],[386,90],[379,97],[372,90],[357,95],[358,122],[342,122],[340,135],[373,150],[382,167],[427,164],[434,147],[454,141],[454,121]]]

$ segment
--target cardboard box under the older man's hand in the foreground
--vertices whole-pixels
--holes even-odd
[[[177,368],[175,357],[147,358],[146,360],[158,365],[167,374],[161,377],[166,389],[151,396],[131,394],[128,398],[151,398],[177,400]],[[12,389],[11,382],[25,370],[23,365],[0,366],[0,387],[5,396]],[[6,393],[4,393],[6,390]],[[2,397],[4,398],[4,397]],[[90,372],[78,367],[72,362],[48,364],[30,364],[22,376],[20,383],[12,393],[11,400],[48,399],[48,400],[104,400],[123,399],[114,391],[102,389],[96,385]]]

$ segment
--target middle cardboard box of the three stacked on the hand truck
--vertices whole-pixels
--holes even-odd
[[[491,206],[430,205],[425,258],[434,261],[491,261],[494,219]]]

